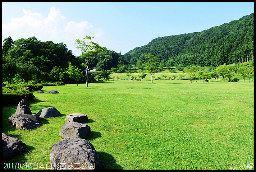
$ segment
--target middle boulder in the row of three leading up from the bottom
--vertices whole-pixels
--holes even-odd
[[[91,127],[87,124],[81,124],[79,122],[67,122],[61,127],[59,134],[62,138],[75,137],[86,139],[90,131]]]

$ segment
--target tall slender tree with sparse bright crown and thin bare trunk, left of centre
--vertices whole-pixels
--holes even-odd
[[[95,56],[99,52],[104,52],[108,50],[107,48],[101,47],[97,43],[90,41],[92,38],[93,37],[87,35],[85,38],[83,38],[84,41],[76,39],[76,43],[75,43],[75,44],[78,44],[78,47],[76,48],[81,50],[81,53],[82,53],[81,56],[84,58],[86,62],[85,64],[84,63],[82,64],[86,71],[86,87],[88,87],[89,65],[92,63],[93,59],[95,59]]]

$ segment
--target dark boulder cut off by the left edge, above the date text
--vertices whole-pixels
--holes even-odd
[[[2,133],[2,146],[2,156],[4,161],[19,155],[27,149],[27,145],[22,143],[20,139],[12,138],[4,133]]]

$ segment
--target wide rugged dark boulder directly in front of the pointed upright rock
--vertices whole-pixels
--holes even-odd
[[[38,114],[14,114],[8,118],[8,122],[23,130],[33,130],[42,126]]]

